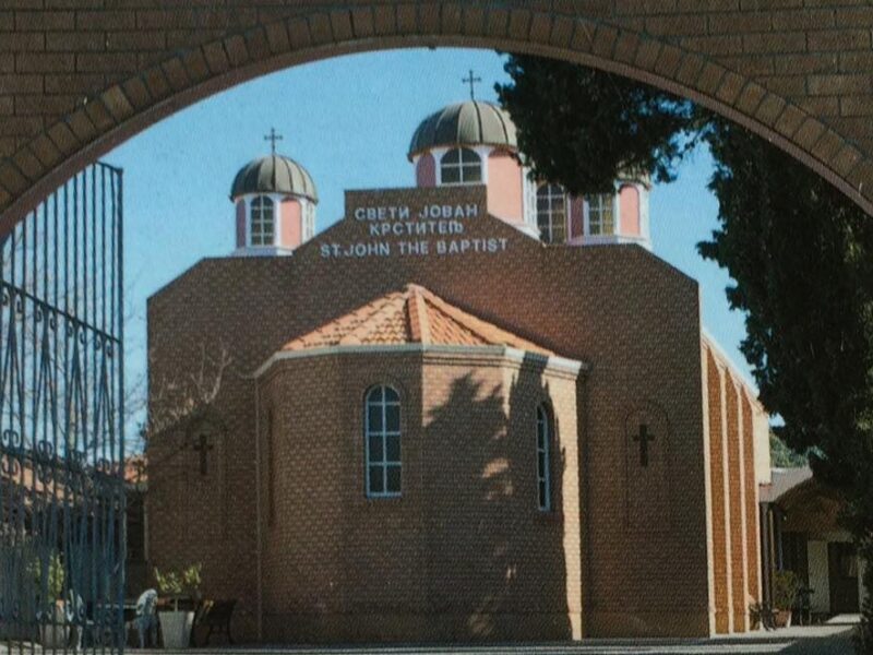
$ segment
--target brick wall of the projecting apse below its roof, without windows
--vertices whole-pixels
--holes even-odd
[[[378,383],[402,397],[400,498],[363,492],[362,398]],[[278,474],[266,641],[579,636],[575,379],[493,355],[382,352],[285,361],[263,389]],[[559,426],[548,513],[543,401]]]

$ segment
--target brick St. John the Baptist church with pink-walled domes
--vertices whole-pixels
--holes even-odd
[[[415,187],[316,233],[274,152],[232,182],[236,250],[150,299],[150,402],[179,417],[150,557],[202,561],[241,639],[750,629],[767,416],[651,253],[649,181],[575,198],[517,155],[502,109],[447,106]]]

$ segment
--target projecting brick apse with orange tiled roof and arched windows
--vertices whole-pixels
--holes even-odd
[[[581,369],[418,285],[288,342],[258,372],[266,639],[579,638]]]

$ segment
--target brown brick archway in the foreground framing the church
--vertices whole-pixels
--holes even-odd
[[[44,4],[57,9],[29,10]],[[0,230],[195,100],[297,63],[422,46],[534,52],[673,91],[873,214],[872,26],[873,7],[849,0],[8,0]]]

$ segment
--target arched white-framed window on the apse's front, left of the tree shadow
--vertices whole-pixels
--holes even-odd
[[[400,495],[400,395],[380,384],[364,400],[367,496]]]

